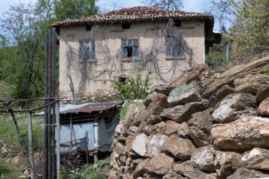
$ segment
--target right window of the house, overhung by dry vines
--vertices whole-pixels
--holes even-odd
[[[183,49],[180,42],[173,36],[166,37],[166,57],[182,57]]]

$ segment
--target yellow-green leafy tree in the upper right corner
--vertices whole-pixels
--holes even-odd
[[[241,50],[261,50],[269,45],[269,0],[231,1],[234,27],[231,37]]]

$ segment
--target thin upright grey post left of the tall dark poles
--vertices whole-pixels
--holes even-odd
[[[33,156],[33,130],[32,130],[32,114],[28,113],[28,140],[29,140],[29,161],[30,161],[30,176],[35,179],[35,163]]]

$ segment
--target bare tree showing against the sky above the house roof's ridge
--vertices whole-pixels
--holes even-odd
[[[154,6],[157,8],[165,8],[171,10],[179,10],[183,8],[181,0],[144,0],[142,3],[147,6]]]

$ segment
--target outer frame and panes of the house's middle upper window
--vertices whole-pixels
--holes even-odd
[[[138,38],[121,38],[120,52],[122,59],[139,58],[139,46],[140,44]]]

